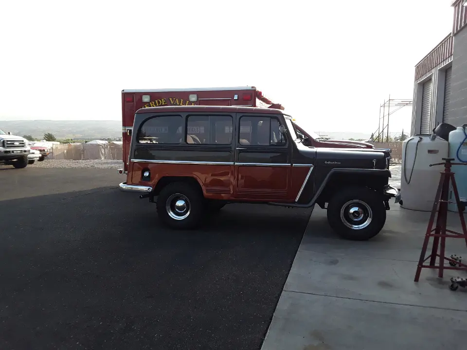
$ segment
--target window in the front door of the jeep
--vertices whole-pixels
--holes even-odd
[[[271,117],[241,117],[240,144],[256,146],[283,146],[284,135],[279,132],[279,121]]]

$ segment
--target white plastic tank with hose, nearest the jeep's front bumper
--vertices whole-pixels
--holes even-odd
[[[448,157],[449,143],[438,136],[414,135],[402,143],[400,179],[401,207],[431,211],[438,189],[442,165]]]

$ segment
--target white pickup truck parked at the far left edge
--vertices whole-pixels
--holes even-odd
[[[0,129],[0,164],[26,168],[30,150],[28,140]]]

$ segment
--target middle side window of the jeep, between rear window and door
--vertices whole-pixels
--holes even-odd
[[[231,144],[231,116],[191,115],[186,123],[186,142],[192,144]]]

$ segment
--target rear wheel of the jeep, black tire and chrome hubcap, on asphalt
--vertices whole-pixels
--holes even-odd
[[[185,211],[183,212],[178,212],[175,208],[175,203],[179,199],[185,203]],[[179,210],[181,209],[183,207],[180,206]],[[197,228],[202,222],[204,211],[204,197],[201,189],[189,183],[172,182],[165,186],[157,197],[159,218],[164,224],[172,228]],[[188,215],[183,218],[187,212]],[[179,217],[179,219],[175,217]]]

